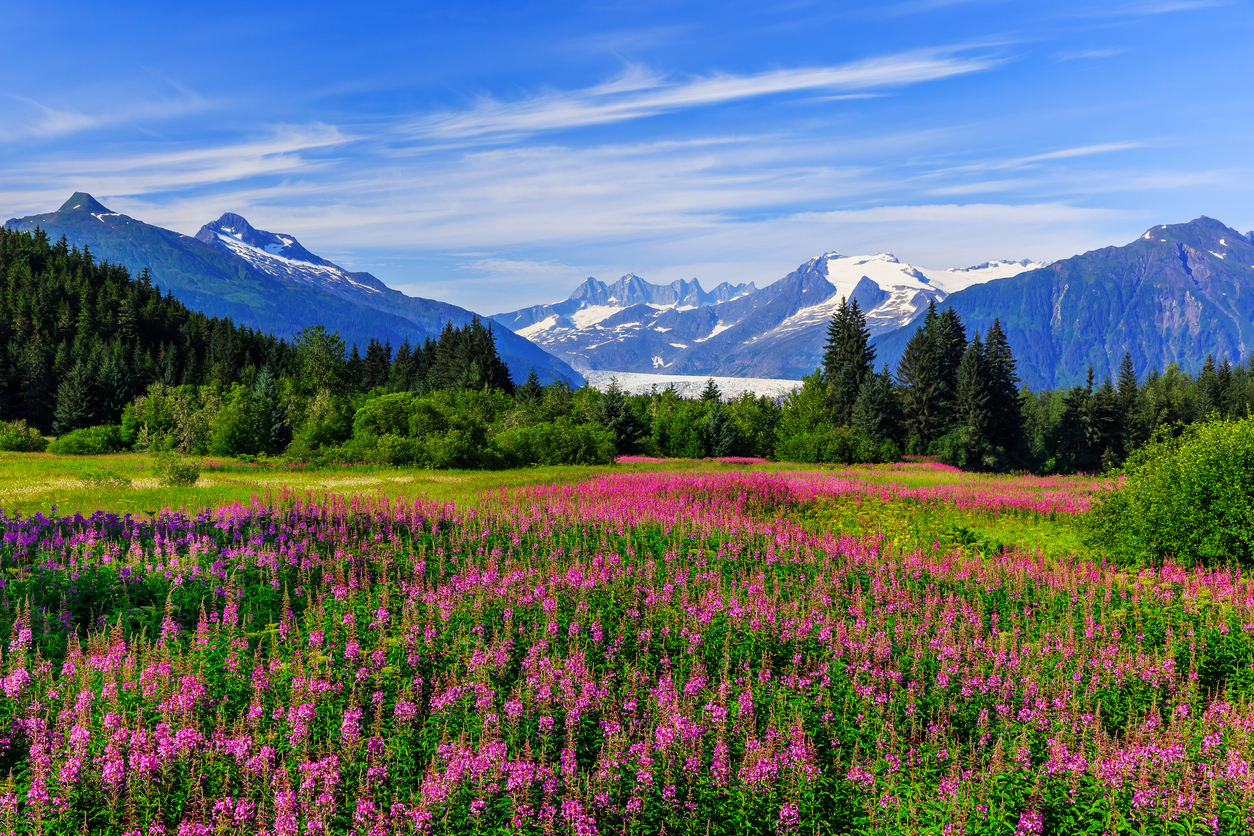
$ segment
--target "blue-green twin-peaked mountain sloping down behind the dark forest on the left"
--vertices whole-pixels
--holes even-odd
[[[147,268],[162,288],[192,310],[229,316],[277,336],[325,325],[361,348],[371,337],[435,337],[445,322],[464,325],[474,316],[455,305],[405,296],[370,273],[354,273],[319,258],[291,236],[253,229],[236,214],[206,224],[196,238],[110,212],[90,194],[76,192],[56,212],[5,222],[8,228],[43,228],[90,248],[103,261],[133,273]],[[497,327],[497,345],[517,381],[532,366],[542,380],[581,376],[508,328]]]

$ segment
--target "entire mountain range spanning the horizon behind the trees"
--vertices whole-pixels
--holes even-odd
[[[233,213],[188,237],[79,192],[56,212],[5,226],[64,236],[98,259],[148,269],[188,307],[280,336],[321,323],[360,347],[371,337],[396,346],[475,316],[405,296]],[[958,269],[829,252],[765,287],[722,282],[711,291],[696,278],[589,277],[566,300],[489,322],[515,381],[532,367],[544,382],[574,385],[582,371],[798,380],[819,366],[841,298],[867,312],[877,365],[895,366],[935,302],[953,307],[969,333],[998,318],[1032,389],[1081,382],[1090,365],[1099,377],[1111,374],[1125,351],[1140,374],[1170,363],[1196,371],[1208,356],[1238,361],[1254,350],[1254,232],[1200,217],[1050,264]]]

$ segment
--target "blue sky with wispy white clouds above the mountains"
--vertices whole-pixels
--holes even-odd
[[[238,212],[484,313],[1254,227],[1250,0],[352,5],[8,8],[0,216]]]

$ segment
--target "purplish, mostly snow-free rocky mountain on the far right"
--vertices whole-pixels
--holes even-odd
[[[1083,382],[1090,363],[1099,379],[1114,375],[1125,351],[1139,374],[1172,362],[1196,371],[1208,355],[1235,361],[1254,348],[1254,243],[1201,217],[966,288],[946,305],[968,330],[999,318],[1033,389]],[[877,340],[880,360],[895,363],[917,326]]]

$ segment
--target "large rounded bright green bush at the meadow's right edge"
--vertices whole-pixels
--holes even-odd
[[[1160,435],[1122,478],[1087,515],[1091,545],[1131,560],[1254,558],[1254,419]]]

